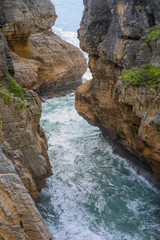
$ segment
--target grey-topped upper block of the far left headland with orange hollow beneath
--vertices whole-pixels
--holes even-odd
[[[50,0],[3,0],[3,34],[12,52],[25,56],[31,33],[47,31],[57,16]]]

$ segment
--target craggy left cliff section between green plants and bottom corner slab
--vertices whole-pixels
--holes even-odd
[[[8,104],[0,98],[0,121],[3,129],[2,149],[15,165],[22,182],[34,200],[46,186],[51,165],[47,154],[47,141],[40,127],[41,102],[33,91],[26,92],[30,107],[19,109],[15,97]]]

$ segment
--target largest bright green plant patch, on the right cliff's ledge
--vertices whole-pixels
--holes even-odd
[[[154,87],[160,92],[160,67],[146,64],[139,69],[129,69],[121,74],[121,80],[132,85]]]

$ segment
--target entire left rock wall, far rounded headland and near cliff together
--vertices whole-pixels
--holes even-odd
[[[35,91],[68,93],[86,70],[56,18],[49,0],[0,1],[0,240],[52,239],[34,203],[52,175]]]

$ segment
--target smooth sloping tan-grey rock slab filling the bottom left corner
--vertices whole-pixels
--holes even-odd
[[[0,239],[52,239],[13,163],[1,149],[0,196]]]

